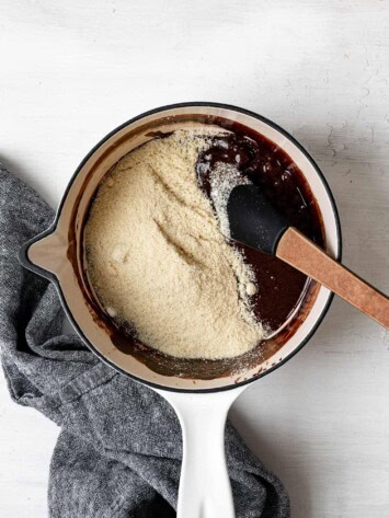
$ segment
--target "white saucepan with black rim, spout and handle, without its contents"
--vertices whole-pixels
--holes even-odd
[[[102,360],[126,376],[151,387],[174,407],[183,433],[179,518],[233,518],[233,502],[227,473],[224,433],[232,402],[249,383],[272,372],[296,354],[312,336],[330,306],[332,293],[310,287],[295,318],[266,355],[250,361],[179,362],[161,358],[119,338],[93,300],[83,268],[83,223],[103,175],[134,148],[159,131],[183,125],[238,122],[275,142],[298,165],[322,216],[327,251],[341,255],[341,231],[330,188],[310,156],[286,131],[244,110],[215,103],[185,103],[142,114],[107,135],[92,149],[72,176],[53,226],[27,242],[20,254],[27,268],[47,277],[57,287],[64,308],[81,338]],[[157,134],[156,134],[157,133]],[[244,362],[243,362],[244,364]]]

